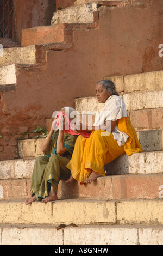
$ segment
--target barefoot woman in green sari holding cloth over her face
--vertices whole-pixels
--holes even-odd
[[[61,109],[61,112],[64,113],[65,109]],[[57,122],[57,117],[54,122]],[[31,184],[32,198],[26,200],[26,205],[36,200],[41,201],[41,203],[58,200],[59,181],[71,176],[66,164],[71,159],[74,143],[78,136],[66,133],[64,125],[56,131],[54,122],[41,146],[41,151],[44,153],[48,151],[50,155],[39,156],[35,161]]]

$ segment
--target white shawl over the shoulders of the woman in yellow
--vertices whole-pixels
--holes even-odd
[[[113,95],[105,103],[99,104],[93,126],[104,125],[105,121],[116,121],[122,117],[127,117],[126,105],[120,96]],[[118,129],[118,125],[114,127],[112,134],[119,146],[124,145],[129,137]]]

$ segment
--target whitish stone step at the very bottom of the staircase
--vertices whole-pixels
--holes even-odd
[[[0,225],[0,245],[58,245],[60,249],[71,252],[70,245],[81,246],[75,249],[84,252],[86,246],[104,246],[107,252],[109,245],[162,245],[163,227],[150,225]],[[105,248],[106,247],[106,248]],[[82,251],[81,251],[82,249]],[[86,248],[85,248],[86,249]],[[96,248],[87,248],[85,252]],[[59,248],[54,249],[58,253]],[[64,251],[62,251],[64,252]],[[73,251],[74,252],[74,251]],[[97,251],[97,253],[103,251]]]

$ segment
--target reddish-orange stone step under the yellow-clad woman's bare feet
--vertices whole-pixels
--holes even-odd
[[[31,179],[0,180],[0,200],[30,198]],[[98,200],[161,199],[163,174],[111,175],[100,177],[92,184],[79,185],[77,181],[59,182],[59,199],[91,198]]]

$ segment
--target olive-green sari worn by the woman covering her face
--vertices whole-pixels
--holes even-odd
[[[35,161],[31,183],[31,196],[33,197],[36,194],[37,201],[48,197],[51,186],[53,186],[57,194],[59,181],[70,178],[71,176],[71,171],[66,168],[66,165],[71,160],[74,144],[78,136],[65,133],[64,146],[67,151],[59,155],[56,154],[58,135],[59,131],[53,133],[50,150],[46,152],[46,156],[39,156]]]

